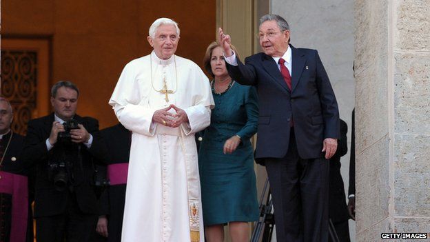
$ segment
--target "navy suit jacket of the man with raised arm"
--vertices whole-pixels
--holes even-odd
[[[323,157],[323,140],[339,137],[339,112],[329,78],[316,50],[291,48],[290,92],[278,64],[267,54],[245,59],[245,65],[227,65],[229,75],[243,85],[258,90],[258,139],[256,160],[282,158],[287,154],[290,121],[298,154],[302,159]]]

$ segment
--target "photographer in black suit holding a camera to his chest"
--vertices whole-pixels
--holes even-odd
[[[59,81],[51,90],[54,113],[28,123],[23,157],[36,167],[37,241],[85,242],[96,228],[93,159],[105,160],[105,148],[99,122],[76,114],[78,97],[74,83]]]

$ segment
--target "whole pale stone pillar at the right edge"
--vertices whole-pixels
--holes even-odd
[[[429,4],[355,1],[357,241],[430,232]]]

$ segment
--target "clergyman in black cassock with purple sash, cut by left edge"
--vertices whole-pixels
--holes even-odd
[[[32,241],[28,169],[21,157],[24,137],[10,129],[13,113],[0,99],[0,241]]]

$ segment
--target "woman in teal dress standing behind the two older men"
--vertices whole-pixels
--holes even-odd
[[[237,53],[237,51],[235,50]],[[208,242],[224,241],[229,225],[232,241],[249,241],[249,222],[258,220],[254,150],[250,141],[257,131],[256,89],[232,80],[223,50],[209,45],[205,69],[214,77],[215,108],[198,152],[203,223]]]

